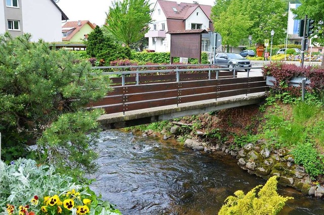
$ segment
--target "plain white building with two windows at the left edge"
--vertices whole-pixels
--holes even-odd
[[[1,1],[1,0],[0,0]],[[31,33],[32,41],[62,41],[62,20],[68,20],[54,0],[3,0],[0,2],[0,34]]]

